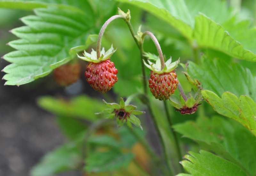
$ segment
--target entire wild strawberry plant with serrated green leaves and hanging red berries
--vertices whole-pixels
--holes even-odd
[[[34,13],[10,30],[19,39],[3,56],[5,85],[48,75],[66,86],[77,80],[78,63],[80,79],[107,100],[38,99],[69,142],[32,176],[256,175],[254,1],[2,0],[0,7]],[[156,140],[145,137],[155,130]]]

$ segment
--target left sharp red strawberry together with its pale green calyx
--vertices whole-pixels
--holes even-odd
[[[111,45],[107,52],[102,48],[99,59],[97,59],[97,53],[93,49],[91,54],[84,51],[84,57],[77,55],[80,59],[88,61],[84,75],[90,86],[98,92],[106,93],[118,81],[116,76],[118,70],[115,68],[115,64],[110,61],[110,56],[115,51]]]

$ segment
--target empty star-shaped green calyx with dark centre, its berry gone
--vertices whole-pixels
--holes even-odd
[[[122,127],[124,123],[126,122],[127,126],[129,128],[132,128],[132,124],[140,127],[142,130],[142,127],[140,125],[140,120],[135,115],[144,114],[143,111],[136,111],[136,106],[133,105],[125,105],[124,99],[121,98],[120,104],[117,103],[107,103],[105,100],[103,100],[104,104],[108,106],[108,109],[104,109],[100,113],[101,115],[106,115],[107,118],[113,119],[116,117],[116,123],[118,128]]]

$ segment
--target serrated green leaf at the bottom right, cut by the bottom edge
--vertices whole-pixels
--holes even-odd
[[[246,176],[246,173],[237,165],[228,160],[217,157],[216,155],[200,150],[200,154],[192,151],[190,155],[185,155],[183,158],[187,160],[181,161],[181,165],[186,171],[195,176]]]

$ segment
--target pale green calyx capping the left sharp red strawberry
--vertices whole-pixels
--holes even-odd
[[[79,56],[78,54],[76,54],[76,55],[78,58],[83,59],[84,61],[99,63],[101,61],[107,60],[109,57],[111,57],[115,53],[115,51],[116,51],[116,49],[114,49],[113,45],[111,45],[110,49],[107,52],[105,52],[105,49],[102,48],[102,50],[100,51],[99,59],[97,59],[97,53],[93,49],[92,49],[91,54],[87,53],[84,50],[84,53],[83,53],[84,57]]]

